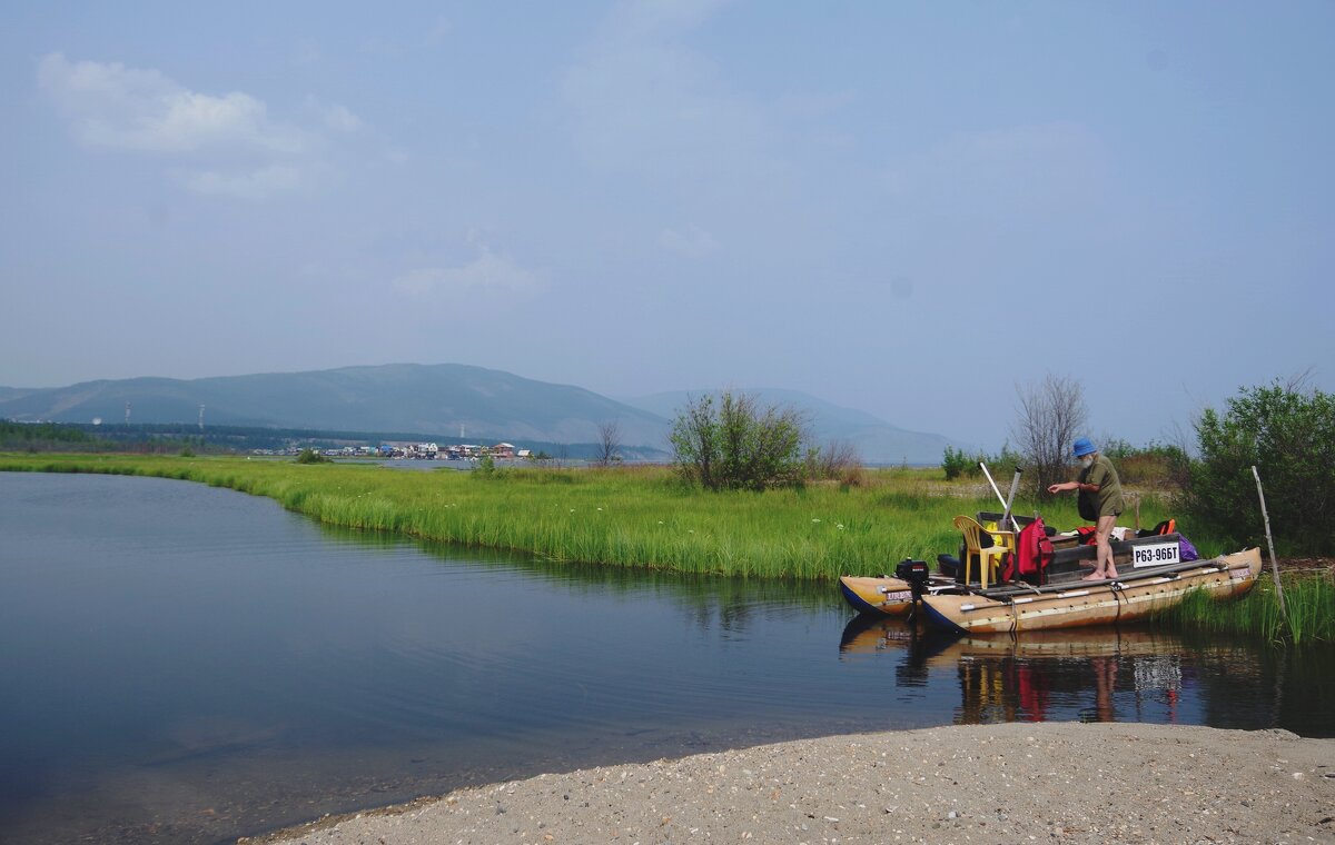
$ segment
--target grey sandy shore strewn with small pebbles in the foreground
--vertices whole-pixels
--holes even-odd
[[[828,737],[461,789],[264,841],[1335,842],[1335,740],[1071,722]]]

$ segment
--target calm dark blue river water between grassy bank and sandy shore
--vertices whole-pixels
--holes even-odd
[[[515,514],[522,519],[523,514]],[[937,641],[829,586],[555,566],[0,474],[0,841],[218,842],[466,784],[1015,720],[1335,736],[1335,653]]]

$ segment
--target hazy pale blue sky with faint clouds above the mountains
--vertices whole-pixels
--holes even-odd
[[[32,3],[0,384],[467,363],[996,449],[1335,390],[1335,4]]]

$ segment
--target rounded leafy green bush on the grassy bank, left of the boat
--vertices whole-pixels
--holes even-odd
[[[801,411],[762,406],[745,392],[688,398],[669,439],[682,478],[706,490],[764,490],[802,478]]]

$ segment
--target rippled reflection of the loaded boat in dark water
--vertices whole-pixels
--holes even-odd
[[[900,619],[857,617],[840,641],[844,659],[897,657],[897,686],[957,685],[956,724],[1135,721],[1268,726],[1283,674],[1260,647],[1189,642],[1153,629],[1089,627],[1019,637],[952,638]],[[1232,677],[1222,682],[1219,677]],[[1234,685],[1252,691],[1238,702]],[[940,691],[940,690],[939,690]],[[1236,702],[1236,703],[1235,703]],[[1246,709],[1235,713],[1231,708]]]

